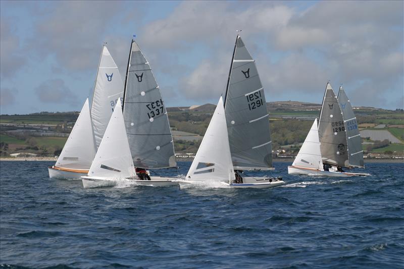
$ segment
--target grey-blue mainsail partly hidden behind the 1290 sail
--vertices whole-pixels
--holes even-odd
[[[349,166],[364,167],[362,141],[357,118],[342,86],[339,87],[338,102],[345,124]]]

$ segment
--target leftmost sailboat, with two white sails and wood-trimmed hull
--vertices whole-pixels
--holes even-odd
[[[107,46],[103,45],[91,107],[88,107],[87,99],[56,164],[48,168],[50,178],[80,179],[88,173],[116,100],[122,94],[118,67]]]

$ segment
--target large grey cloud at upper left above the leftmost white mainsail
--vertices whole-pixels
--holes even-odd
[[[73,70],[94,67],[105,33],[116,27],[113,22],[121,2],[62,1],[49,6],[47,14],[35,26],[34,48],[42,56],[53,54],[58,64]],[[37,38],[40,36],[41,38]]]

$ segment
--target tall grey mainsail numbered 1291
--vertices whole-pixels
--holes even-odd
[[[272,145],[264,88],[240,36],[236,38],[225,95],[225,115],[234,169],[269,170]]]

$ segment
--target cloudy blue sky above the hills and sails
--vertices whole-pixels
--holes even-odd
[[[236,30],[267,101],[404,106],[403,1],[0,1],[0,113],[79,111],[104,42],[124,78],[133,34],[166,106],[217,103]]]

